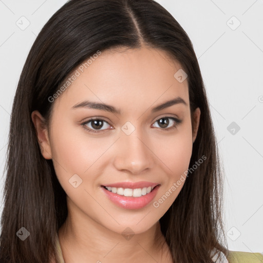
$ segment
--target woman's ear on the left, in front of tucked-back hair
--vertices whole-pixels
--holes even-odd
[[[38,110],[34,110],[31,114],[34,123],[36,136],[39,141],[41,153],[45,159],[52,159],[50,141],[48,137],[48,128],[44,124],[44,118]]]

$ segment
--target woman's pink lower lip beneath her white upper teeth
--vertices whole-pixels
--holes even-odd
[[[114,194],[110,191],[108,191],[107,189],[105,189],[103,186],[102,190],[104,191],[104,193],[107,195],[107,197],[109,198],[109,200],[113,203],[115,203],[116,205],[120,206],[121,208],[124,209],[141,209],[144,208],[144,206],[146,206],[149,202],[151,202],[156,194],[157,191],[160,187],[160,184],[157,185],[152,192],[146,194],[146,195],[142,195],[140,197],[133,197],[133,196],[124,196],[124,195],[118,195],[118,194]]]

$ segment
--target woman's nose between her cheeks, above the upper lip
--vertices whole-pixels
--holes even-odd
[[[140,174],[151,169],[154,164],[153,152],[147,142],[137,130],[130,135],[123,133],[118,140],[114,158],[117,170]]]

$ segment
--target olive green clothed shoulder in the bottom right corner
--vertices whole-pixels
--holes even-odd
[[[262,263],[263,254],[241,251],[229,251],[227,259],[229,263]]]

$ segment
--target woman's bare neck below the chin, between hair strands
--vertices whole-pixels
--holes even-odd
[[[59,229],[59,240],[67,262],[172,262],[159,221],[143,233],[124,235],[88,218],[68,214]],[[87,219],[87,218],[86,218]]]

